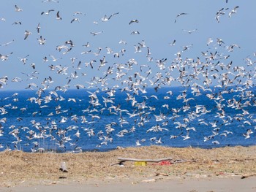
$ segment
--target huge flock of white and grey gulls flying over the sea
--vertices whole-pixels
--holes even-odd
[[[59,3],[55,0],[45,0],[45,3]],[[227,2],[227,1],[226,1]],[[23,9],[18,5],[14,5],[15,12],[23,12]],[[231,18],[238,12],[238,6],[234,7],[229,13],[228,18]],[[217,22],[220,22],[220,18],[226,15],[228,8],[222,8],[217,11],[215,16]],[[25,11],[25,10],[24,10]],[[61,12],[54,9],[39,12],[39,15],[56,15],[56,20],[63,21],[61,18]],[[86,17],[83,12],[75,12],[72,14],[74,17],[82,15]],[[99,22],[110,22],[112,19],[118,19],[119,12],[111,15],[104,15]],[[187,17],[188,13],[181,12],[174,18],[174,23],[178,23],[180,17]],[[5,22],[6,18],[1,18],[1,21]],[[61,22],[60,21],[60,22]],[[80,23],[80,18],[73,18],[69,23]],[[21,21],[15,21],[12,25],[22,25]],[[98,22],[94,21],[97,25]],[[139,25],[140,19],[131,18],[127,21],[127,25]],[[1,25],[1,23],[0,23]],[[35,27],[39,37],[37,38],[39,45],[45,45],[47,39],[41,34],[40,23]],[[196,33],[199,28],[193,30],[185,30],[188,34]],[[91,31],[91,37],[94,38],[98,35],[104,35],[104,31]],[[139,31],[131,31],[131,35],[140,35]],[[33,32],[26,30],[24,40],[34,38]],[[15,40],[4,43],[1,47],[7,47],[15,44]],[[206,135],[203,140],[205,142],[210,141],[214,145],[219,144],[219,140],[215,139],[229,137],[233,134],[232,131],[228,131],[225,127],[231,123],[239,123],[239,126],[245,128],[242,137],[249,139],[256,128],[255,114],[250,114],[249,110],[255,109],[255,54],[249,55],[244,59],[244,65],[235,66],[230,58],[230,53],[241,49],[239,45],[226,45],[225,40],[217,38],[209,38],[206,42],[208,50],[202,51],[196,58],[186,58],[185,55],[189,50],[193,48],[193,45],[184,45],[181,49],[178,47],[178,51],[172,61],[167,58],[153,58],[151,48],[147,46],[146,40],[141,40],[138,45],[134,45],[134,54],[144,57],[146,55],[146,62],[140,64],[135,58],[129,58],[128,61],[122,61],[124,55],[132,54],[128,53],[127,46],[129,42],[121,39],[118,42],[123,46],[121,50],[115,51],[110,47],[98,47],[97,51],[90,50],[91,42],[87,42],[84,45],[84,51],[77,53],[77,57],[70,58],[69,65],[58,64],[62,58],[56,58],[53,54],[44,56],[43,63],[50,63],[49,74],[53,73],[59,77],[65,77],[66,83],[64,85],[56,85],[53,87],[54,77],[49,75],[44,77],[40,84],[33,82],[39,80],[39,72],[37,71],[36,64],[30,64],[33,72],[23,73],[26,75],[29,83],[26,86],[26,90],[34,90],[35,96],[27,99],[28,103],[37,104],[40,110],[48,107],[50,102],[58,102],[55,109],[47,115],[48,123],[45,125],[42,122],[31,120],[30,125],[26,126],[10,126],[6,127],[8,119],[6,118],[10,110],[20,110],[26,112],[26,107],[17,109],[15,101],[18,101],[18,93],[13,94],[7,98],[1,98],[1,101],[10,101],[10,104],[6,104],[0,107],[0,139],[8,134],[14,138],[12,142],[14,148],[18,150],[20,143],[27,143],[31,145],[31,152],[43,152],[45,148],[39,145],[39,139],[50,138],[58,148],[64,149],[67,145],[74,145],[74,151],[81,151],[82,148],[77,145],[80,134],[86,134],[89,137],[98,137],[99,145],[108,145],[113,141],[113,135],[116,137],[125,137],[127,134],[134,133],[138,128],[144,128],[146,133],[148,132],[162,132],[170,131],[172,128],[180,130],[180,134],[170,134],[170,139],[176,139],[181,137],[183,140],[190,138],[189,132],[197,131],[197,127],[191,126],[192,122],[197,121],[197,125],[205,125],[208,128],[212,128],[212,134]],[[77,46],[71,39],[64,41],[63,45],[56,45],[56,52],[63,57],[68,57],[68,53],[74,51],[74,47]],[[170,46],[176,46],[176,40],[170,43]],[[214,50],[214,51],[213,51]],[[1,50],[2,51],[2,50]],[[22,64],[28,64],[29,55],[18,58]],[[79,55],[92,55],[94,59],[91,61],[82,61]],[[15,53],[1,54],[0,59],[2,64],[10,57],[14,57]],[[50,59],[51,58],[51,59]],[[115,62],[112,62],[115,59]],[[71,82],[77,82],[79,78],[86,77],[86,73],[83,70],[94,73],[95,76],[91,80],[84,82],[80,80],[80,83],[71,86]],[[157,70],[156,70],[157,69]],[[248,70],[250,69],[250,70]],[[0,77],[0,88],[4,90],[4,87],[9,82],[23,82],[20,77],[10,77],[4,75]],[[116,82],[116,85],[110,86],[110,82]],[[171,87],[173,83],[178,83],[179,86],[184,88],[180,94],[173,93]],[[147,88],[154,88],[155,94],[148,96]],[[160,88],[170,88],[166,91],[163,99],[165,104],[162,104],[159,108],[154,105],[154,101],[159,99]],[[68,110],[63,110],[61,104],[63,102],[73,102],[78,104],[80,101],[77,98],[65,99],[62,94],[72,88],[84,90],[89,94],[88,104],[89,107],[81,109],[83,115],[67,115]],[[121,104],[115,102],[116,91],[120,90],[125,93],[125,101],[130,105],[132,111],[127,110]],[[192,93],[192,97],[189,97],[189,91]],[[101,96],[100,93],[105,93],[106,96]],[[234,95],[229,99],[225,99],[227,95]],[[174,97],[176,96],[176,97]],[[215,102],[214,109],[209,109],[207,105],[195,104],[192,105],[191,101],[196,102],[197,97],[206,96],[209,101]],[[139,101],[139,97],[143,98]],[[183,105],[178,108],[171,107],[173,101],[182,101]],[[64,104],[63,104],[64,105]],[[236,115],[227,115],[227,109],[236,110]],[[216,110],[216,112],[214,112]],[[214,112],[213,116],[215,120],[207,120],[204,115]],[[116,120],[111,123],[106,123],[105,127],[100,131],[95,132],[93,126],[97,124],[97,121],[101,120],[102,113],[116,116]],[[35,111],[32,113],[32,117],[37,117],[40,112]],[[56,120],[57,117],[61,117],[61,120]],[[129,119],[133,119],[134,123],[131,125]],[[18,121],[22,121],[22,118],[17,118]],[[71,120],[74,125],[65,127],[67,120]],[[154,122],[154,126],[148,127],[148,122]],[[78,123],[83,126],[78,126]],[[79,124],[79,125],[80,125]],[[61,126],[60,126],[61,125]],[[254,127],[253,127],[254,126]],[[75,134],[70,134],[75,130]],[[26,132],[26,141],[22,142],[20,138],[20,132]],[[53,132],[55,134],[53,134]],[[1,140],[0,140],[1,141]],[[146,139],[135,139],[135,145],[143,145]],[[161,137],[152,137],[150,141],[154,144],[162,144]],[[4,148],[5,146],[1,145]],[[5,147],[10,150],[10,146]]]

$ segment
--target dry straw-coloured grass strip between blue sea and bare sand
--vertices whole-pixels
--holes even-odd
[[[110,166],[124,158],[167,158],[194,160],[192,162],[161,166]],[[59,172],[62,161],[69,172]],[[161,172],[175,177],[186,175],[253,174],[256,173],[256,147],[222,147],[211,150],[200,148],[135,147],[110,152],[88,153],[0,153],[0,185],[20,183],[23,180],[87,180],[105,177],[148,177]]]

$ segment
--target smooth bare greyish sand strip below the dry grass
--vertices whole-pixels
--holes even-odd
[[[10,188],[0,188],[1,191],[31,192],[31,191],[255,191],[255,177],[241,180],[240,177],[211,177],[159,180],[156,182],[132,183],[131,180],[115,182],[113,180],[93,180],[86,183],[64,183],[48,185],[16,185]]]

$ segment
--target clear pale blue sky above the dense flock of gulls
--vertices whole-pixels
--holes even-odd
[[[16,12],[15,4],[23,11]],[[237,12],[230,18],[228,13],[238,6]],[[1,71],[0,77],[7,76],[7,85],[3,85],[0,91],[25,89],[29,83],[35,82],[38,87],[42,87],[41,82],[52,77],[53,83],[49,85],[49,89],[54,89],[57,85],[65,85],[70,79],[69,76],[78,73],[78,78],[72,78],[69,88],[75,88],[75,84],[83,84],[89,86],[91,78],[104,77],[104,72],[108,66],[114,64],[127,64],[129,59],[134,58],[138,61],[138,66],[133,66],[132,70],[127,72],[124,77],[135,72],[140,72],[140,65],[151,67],[151,75],[148,78],[154,79],[154,74],[161,71],[157,68],[158,59],[167,58],[166,66],[172,64],[176,58],[176,53],[181,52],[182,58],[197,59],[202,58],[202,51],[225,53],[230,55],[228,60],[233,61],[235,66],[244,66],[247,70],[254,69],[254,66],[246,66],[244,59],[252,58],[255,61],[253,53],[255,53],[255,14],[254,9],[256,1],[237,1],[230,0],[184,0],[184,1],[67,1],[59,0],[59,3],[45,2],[41,0],[34,1],[10,1],[3,0],[0,7],[0,44],[14,40],[7,46],[0,47],[1,55],[12,53],[8,60],[0,61]],[[220,22],[216,20],[216,13],[219,9],[229,8],[225,15],[220,17]],[[41,12],[54,9],[49,15],[41,15]],[[61,20],[56,20],[56,12],[60,13]],[[74,12],[83,12],[86,15],[73,15]],[[102,22],[104,15],[110,16],[110,20]],[[179,13],[187,13],[177,18]],[[80,22],[70,23],[73,18],[79,18]],[[138,23],[129,25],[130,20],[137,19]],[[20,21],[21,25],[12,24]],[[94,21],[97,24],[94,24]],[[40,34],[37,34],[37,25],[40,23]],[[191,34],[187,31],[196,29]],[[32,34],[24,40],[24,32],[30,31]],[[103,31],[102,34],[93,36],[91,32]],[[140,34],[132,35],[132,31],[139,31]],[[37,39],[42,36],[46,39],[45,45],[39,45]],[[212,38],[214,42],[210,46],[206,43],[208,38]],[[217,45],[217,38],[225,42],[221,47]],[[120,40],[127,42],[126,45],[119,44]],[[176,45],[170,46],[170,42],[176,40]],[[67,54],[63,54],[64,50],[59,52],[56,46],[64,45],[67,40],[72,40],[75,44],[72,50]],[[142,41],[146,42],[146,47],[151,50],[151,62],[146,58],[146,47],[141,49],[140,53],[135,53],[134,45],[138,45]],[[89,42],[90,47],[83,47]],[[241,48],[234,48],[233,52],[228,52],[228,45],[236,44]],[[189,50],[183,51],[184,46],[192,45]],[[102,51],[98,56],[97,48],[102,47]],[[113,53],[108,54],[105,47],[110,47],[113,53],[125,49],[124,55],[120,58],[114,58]],[[90,51],[89,54],[81,54],[84,51]],[[20,58],[27,57],[26,64],[20,61]],[[51,61],[49,55],[61,58],[56,62]],[[47,56],[48,62],[44,62],[43,58]],[[99,60],[105,56],[106,66],[97,70]],[[75,63],[71,64],[70,58],[76,58]],[[94,69],[85,65],[89,61],[97,61]],[[81,61],[81,69],[75,69],[78,62]],[[35,64],[35,69],[31,67]],[[50,65],[67,66],[67,74],[58,74],[57,70],[50,70]],[[31,74],[37,71],[39,74]],[[115,71],[116,72],[116,71]],[[24,74],[25,73],[25,74]],[[85,76],[82,75],[86,74]],[[164,72],[162,72],[164,73]],[[173,76],[176,76],[173,72]],[[27,76],[26,74],[30,75]],[[21,82],[11,82],[14,77],[20,77]],[[32,77],[29,79],[29,77]],[[116,75],[109,75],[108,86],[113,86],[118,82],[113,81]],[[124,80],[124,79],[123,79]],[[178,83],[173,82],[173,85]],[[99,86],[100,85],[95,85]],[[35,88],[37,89],[37,88]]]

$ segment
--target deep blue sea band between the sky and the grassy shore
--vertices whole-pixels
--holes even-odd
[[[256,143],[255,88],[1,91],[0,106],[1,151]]]

